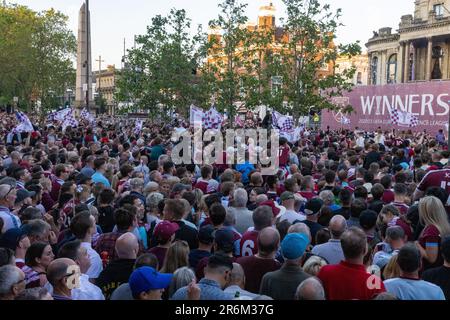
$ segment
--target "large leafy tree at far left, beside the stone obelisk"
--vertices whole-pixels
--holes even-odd
[[[0,7],[0,103],[19,97],[26,108],[37,101],[44,109],[61,104],[55,96],[75,86],[76,39],[67,21],[53,9]]]

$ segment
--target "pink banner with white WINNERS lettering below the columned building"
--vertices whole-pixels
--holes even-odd
[[[450,111],[450,81],[417,82],[411,84],[359,86],[343,97],[333,98],[337,106],[351,105],[352,114],[340,111],[322,112],[322,129],[356,128],[365,131],[423,131],[436,133],[447,130]],[[393,125],[389,110],[397,109],[416,115],[418,126]]]

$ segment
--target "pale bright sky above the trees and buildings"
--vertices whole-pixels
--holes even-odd
[[[241,0],[248,3],[249,21],[256,22],[259,7],[270,0]],[[26,5],[41,11],[54,8],[69,17],[69,28],[77,36],[78,12],[83,0],[8,0],[9,3]],[[98,70],[97,61],[101,55],[102,69],[115,64],[120,68],[123,43],[127,48],[133,45],[134,35],[144,34],[152,17],[167,15],[172,8],[185,9],[192,25],[202,24],[217,17],[218,4],[222,0],[90,0],[91,38],[93,70]],[[272,0],[277,8],[277,18],[285,15],[282,0]],[[342,9],[344,24],[337,33],[338,43],[361,41],[364,44],[372,37],[372,31],[382,27],[398,29],[400,17],[414,13],[414,0],[324,0],[332,8]],[[278,20],[277,20],[278,24]]]

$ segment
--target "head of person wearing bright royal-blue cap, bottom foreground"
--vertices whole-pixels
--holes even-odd
[[[152,267],[140,267],[133,271],[128,284],[135,300],[161,300],[171,280],[171,274],[159,273]]]

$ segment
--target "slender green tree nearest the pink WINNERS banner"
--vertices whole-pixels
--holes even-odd
[[[337,74],[334,70],[339,55],[349,57],[361,53],[358,43],[336,46],[334,41],[341,9],[333,11],[319,0],[283,0],[287,8],[284,23],[289,41],[283,50],[283,63],[292,70],[286,74],[286,100],[297,118],[307,114],[310,107],[317,110],[334,109],[331,97],[351,90],[354,68]],[[327,68],[324,68],[324,67]],[[351,109],[350,106],[346,111]]]

